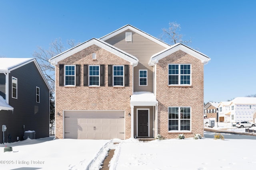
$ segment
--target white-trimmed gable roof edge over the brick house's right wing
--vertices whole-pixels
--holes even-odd
[[[192,55],[197,59],[200,59],[201,62],[204,64],[207,64],[208,61],[210,61],[210,58],[207,55],[200,53],[199,51],[196,51],[182,43],[177,43],[172,45],[168,49],[165,49],[163,51],[160,51],[159,53],[152,55],[152,57],[150,58],[149,64],[152,65],[152,64],[158,63],[160,59],[163,59],[164,57],[172,53],[175,53],[178,50],[184,51],[185,53],[188,53],[189,55]]]

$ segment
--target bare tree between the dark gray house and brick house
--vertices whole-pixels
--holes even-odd
[[[67,44],[69,48],[75,47],[76,45],[78,45],[78,43],[75,43],[73,39],[68,40]],[[46,80],[49,82],[52,88],[51,89],[52,91],[54,91],[54,85],[55,85],[55,78],[54,78],[55,68],[49,63],[49,59],[64,52],[66,49],[67,48],[64,47],[64,44],[62,43],[61,39],[55,39],[50,43],[49,49],[38,47],[38,51],[34,51],[34,53],[32,54],[37,59],[38,64],[42,69],[42,72],[44,73]]]

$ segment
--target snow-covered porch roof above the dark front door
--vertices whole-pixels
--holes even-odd
[[[132,106],[155,106],[157,103],[156,96],[151,92],[134,92],[130,98]]]

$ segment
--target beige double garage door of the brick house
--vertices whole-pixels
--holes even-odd
[[[124,139],[124,111],[64,111],[64,138]]]

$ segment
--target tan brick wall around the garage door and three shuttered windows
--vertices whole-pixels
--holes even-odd
[[[92,53],[96,53],[96,61],[92,60]],[[59,86],[59,64],[80,64],[80,84],[76,87]],[[83,86],[84,64],[105,65],[105,86]],[[108,64],[124,65],[129,68],[128,87],[108,87]],[[130,96],[132,95],[132,65],[130,63],[96,45],[92,45],[78,53],[67,57],[56,65],[56,96],[55,118],[56,138],[63,138],[63,111],[64,110],[124,110],[125,111],[125,138],[130,137]],[[60,113],[60,116],[57,115]]]

